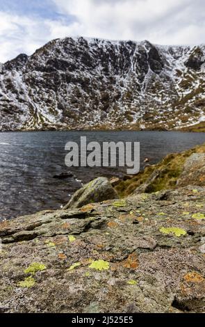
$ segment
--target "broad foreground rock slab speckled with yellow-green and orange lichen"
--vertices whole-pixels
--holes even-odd
[[[204,312],[205,187],[0,224],[0,312]]]

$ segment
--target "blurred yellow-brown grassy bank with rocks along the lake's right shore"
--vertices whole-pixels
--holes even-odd
[[[130,180],[117,184],[120,196],[152,193],[187,185],[205,186],[205,145],[168,154],[156,165],[148,166]]]

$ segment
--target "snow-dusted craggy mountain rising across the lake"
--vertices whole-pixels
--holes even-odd
[[[0,65],[0,130],[173,129],[205,121],[205,45],[53,40]]]

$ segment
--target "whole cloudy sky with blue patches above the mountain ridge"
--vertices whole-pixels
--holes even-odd
[[[83,35],[205,43],[204,0],[0,0],[0,62],[54,38]]]

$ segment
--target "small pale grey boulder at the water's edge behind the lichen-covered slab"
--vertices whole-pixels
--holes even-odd
[[[76,191],[64,209],[80,208],[83,205],[117,199],[117,192],[106,177],[98,177]]]

